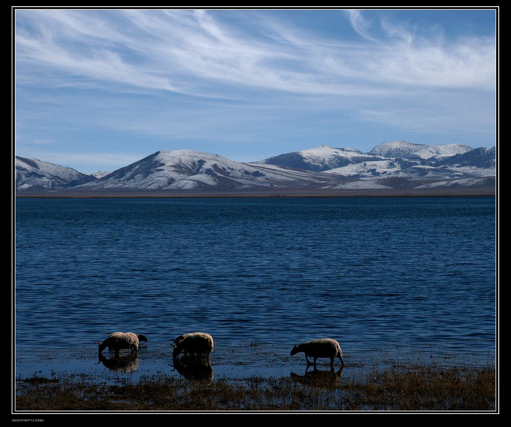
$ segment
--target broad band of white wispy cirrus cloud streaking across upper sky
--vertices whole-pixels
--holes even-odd
[[[399,85],[494,85],[492,38],[448,44],[386,24],[379,28],[386,37],[378,40],[370,33],[374,24],[352,10],[349,21],[364,42],[347,44],[286,34],[264,15],[234,16],[238,25],[201,10],[63,10],[39,11],[25,24],[21,13],[16,56],[20,65],[198,96],[220,95],[222,85],[339,95],[387,94]],[[23,31],[22,23],[35,30]],[[280,37],[269,38],[268,28]]]

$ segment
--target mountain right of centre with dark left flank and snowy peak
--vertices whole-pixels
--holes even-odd
[[[364,154],[353,148],[332,148],[322,145],[308,150],[280,154],[260,160],[258,163],[287,166],[308,171],[326,171],[333,168],[357,164],[361,161],[380,160],[379,157]]]

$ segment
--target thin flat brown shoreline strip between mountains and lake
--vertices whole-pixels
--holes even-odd
[[[266,190],[266,191],[41,191],[15,194],[16,198],[335,198],[335,197],[495,197],[495,188],[424,190]]]

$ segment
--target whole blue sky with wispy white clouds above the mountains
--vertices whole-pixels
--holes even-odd
[[[496,145],[495,10],[14,10],[15,152]]]

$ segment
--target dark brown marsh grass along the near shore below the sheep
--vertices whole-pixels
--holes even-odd
[[[320,371],[318,371],[320,372]],[[111,384],[58,374],[16,381],[16,411],[495,411],[495,370],[406,367],[290,377],[187,380],[165,374]]]

